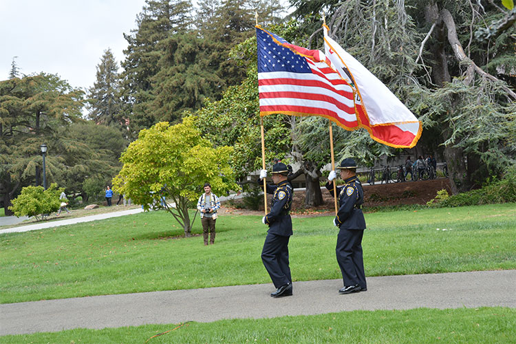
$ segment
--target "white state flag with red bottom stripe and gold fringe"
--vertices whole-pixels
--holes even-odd
[[[387,146],[414,147],[421,136],[421,122],[387,86],[328,36],[326,25],[323,28],[325,55],[354,89],[359,126]]]

